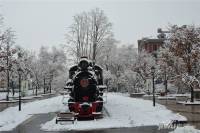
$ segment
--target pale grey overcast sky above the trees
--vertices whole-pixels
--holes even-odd
[[[32,50],[64,44],[73,16],[96,7],[113,24],[115,38],[136,47],[138,39],[155,36],[169,23],[200,23],[198,0],[0,0],[0,14],[16,32],[16,44]]]

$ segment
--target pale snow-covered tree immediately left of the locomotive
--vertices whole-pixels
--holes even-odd
[[[57,89],[59,84],[57,84],[58,81],[55,81],[54,79],[57,79],[59,76],[63,77],[67,74],[65,66],[66,55],[63,49],[52,47],[51,50],[48,50],[48,48],[46,47],[41,47],[38,57],[38,63],[40,67],[40,75],[38,75],[38,78],[40,79],[39,83],[41,85],[43,84],[44,93],[49,89],[51,90],[51,87]],[[65,80],[65,78],[61,80],[61,82],[63,82],[61,85],[64,86]]]

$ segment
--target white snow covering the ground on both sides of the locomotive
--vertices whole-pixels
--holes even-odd
[[[8,131],[15,128],[33,114],[48,113],[67,110],[62,104],[62,96],[38,100],[22,104],[22,111],[17,107],[10,107],[0,112],[0,131]],[[174,114],[164,106],[143,99],[130,98],[126,95],[108,93],[105,108],[110,116],[96,121],[77,121],[75,124],[66,123],[64,125],[55,124],[55,118],[41,125],[42,130],[91,130],[100,128],[134,127],[145,125],[167,124],[172,119],[185,119],[179,114]],[[193,129],[193,128],[192,128]]]

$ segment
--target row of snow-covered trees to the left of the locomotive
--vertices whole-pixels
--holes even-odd
[[[22,80],[29,80],[34,93],[63,88],[66,80],[66,54],[62,47],[41,47],[39,53],[15,45],[15,32],[0,26],[0,81],[9,93],[18,89],[19,70]],[[3,81],[3,82],[2,82]],[[2,87],[2,86],[1,86]],[[5,90],[4,88],[4,90]],[[1,88],[3,89],[3,88]]]

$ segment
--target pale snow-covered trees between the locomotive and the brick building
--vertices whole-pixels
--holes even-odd
[[[141,90],[142,80],[135,72],[137,50],[133,45],[117,47],[115,44],[105,47],[98,63],[104,67],[104,78],[109,90],[121,92],[138,92]]]

